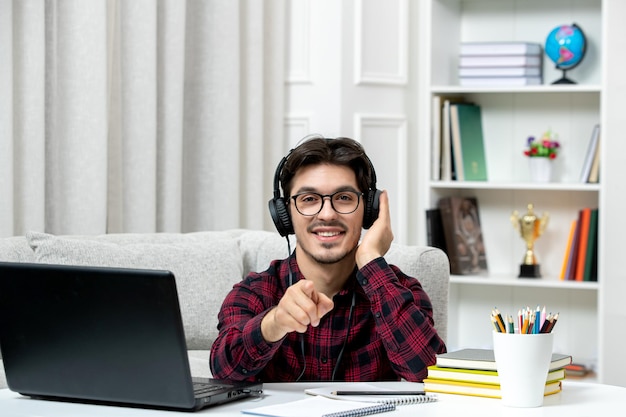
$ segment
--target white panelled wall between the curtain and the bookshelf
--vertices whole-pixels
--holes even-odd
[[[389,191],[396,241],[416,243],[409,190],[415,150],[414,78],[407,0],[291,0],[285,131],[363,144]],[[413,20],[415,21],[415,20]]]

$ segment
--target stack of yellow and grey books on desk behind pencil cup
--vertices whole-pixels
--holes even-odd
[[[572,357],[569,355],[552,354],[544,395],[561,392],[565,366],[571,363]],[[461,349],[437,355],[436,365],[428,367],[424,391],[501,398],[493,350]]]

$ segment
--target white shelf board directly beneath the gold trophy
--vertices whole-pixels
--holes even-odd
[[[479,276],[479,275],[451,275],[451,284],[470,284],[470,285],[499,285],[508,287],[533,287],[533,288],[555,288],[555,289],[574,289],[574,290],[592,290],[598,289],[598,282],[593,281],[561,281],[557,279],[535,279],[535,278],[517,278],[511,276]]]

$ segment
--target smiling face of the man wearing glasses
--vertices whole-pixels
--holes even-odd
[[[301,168],[293,178],[291,195],[304,191],[322,195],[336,191],[360,192],[352,169],[341,165],[311,165]],[[337,213],[324,198],[322,210],[314,216],[304,216],[289,202],[298,247],[312,260],[332,264],[354,256],[361,237],[364,203],[360,197],[358,208],[350,214]]]

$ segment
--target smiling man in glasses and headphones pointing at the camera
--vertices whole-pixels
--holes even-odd
[[[445,344],[419,281],[383,257],[393,240],[389,199],[376,189],[361,145],[306,140],[283,158],[274,182],[270,212],[281,235],[295,233],[296,248],[226,297],[211,348],[213,376],[425,378]],[[360,240],[363,227],[369,230]]]

